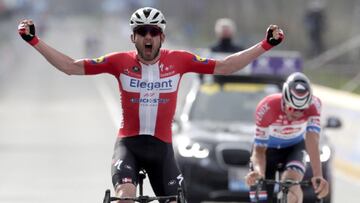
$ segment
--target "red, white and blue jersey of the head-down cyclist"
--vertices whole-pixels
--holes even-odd
[[[284,148],[304,140],[306,132],[320,133],[320,99],[313,96],[310,107],[295,121],[289,121],[281,109],[281,94],[265,97],[256,108],[255,144],[268,148]]]

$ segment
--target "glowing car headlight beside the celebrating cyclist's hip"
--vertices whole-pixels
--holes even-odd
[[[209,156],[209,149],[198,142],[191,142],[188,137],[177,138],[179,154],[183,157],[203,159]]]

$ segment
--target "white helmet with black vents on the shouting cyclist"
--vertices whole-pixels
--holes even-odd
[[[161,11],[151,7],[144,7],[136,10],[130,18],[131,30],[140,25],[156,25],[164,32],[166,21]]]

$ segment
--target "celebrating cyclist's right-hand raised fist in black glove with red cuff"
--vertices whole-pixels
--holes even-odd
[[[265,50],[269,50],[281,43],[284,39],[284,32],[277,25],[270,25],[266,31],[265,39],[261,42],[261,46]]]

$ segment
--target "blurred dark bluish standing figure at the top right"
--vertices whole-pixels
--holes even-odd
[[[325,1],[311,0],[305,12],[305,28],[309,38],[309,55],[325,50],[323,35],[326,29]]]

